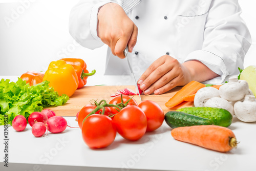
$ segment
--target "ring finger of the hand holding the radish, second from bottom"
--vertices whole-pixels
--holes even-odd
[[[150,87],[148,87],[144,91],[144,94],[145,95],[152,94],[157,89],[163,87],[165,84],[168,84],[171,80],[173,80],[174,78],[176,78],[178,76],[179,76],[178,73],[174,72],[173,70],[170,70],[169,72],[167,72],[166,74],[161,76],[161,78],[159,78],[157,81],[155,81]]]

